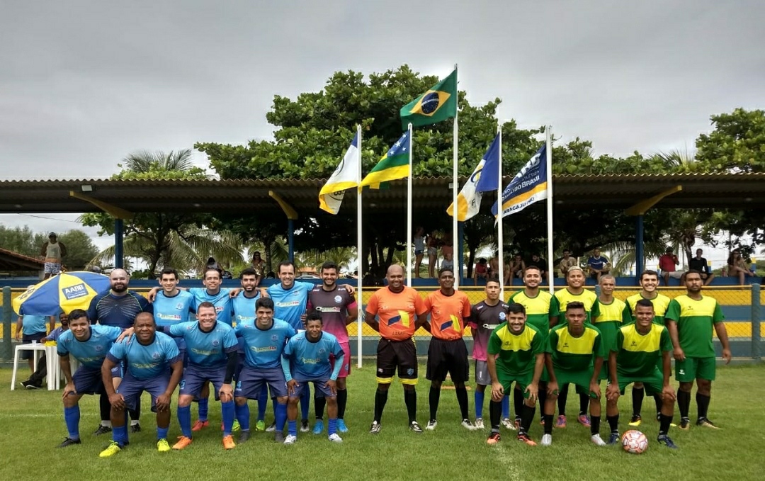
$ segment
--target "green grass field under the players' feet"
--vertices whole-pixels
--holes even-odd
[[[143,431],[133,434],[130,446],[109,459],[98,457],[109,440],[91,435],[98,425],[96,398],[86,396],[81,403],[83,444],[59,450],[55,447],[66,435],[60,391],[11,392],[10,369],[0,369],[0,479],[765,479],[763,365],[719,368],[709,417],[722,429],[673,429],[671,436],[680,447],[675,452],[656,444],[658,423],[649,419],[653,401],[646,398],[648,420],[641,428],[649,437],[649,450],[640,456],[624,453],[620,447],[592,445],[589,430],[572,417],[578,405],[575,395],[569,396],[568,427],[553,433],[552,447],[527,447],[504,429],[500,445],[490,447],[485,442],[487,431],[469,432],[459,426],[457,401],[448,389],[441,395],[438,429],[419,435],[409,432],[402,388],[396,384],[382,418],[382,432],[373,436],[367,432],[375,389],[373,360],[367,366],[356,369],[349,380],[346,419],[350,432],[343,435],[343,444],[330,443],[326,434],[309,433],[301,434],[298,444],[284,446],[275,444],[271,434],[257,433],[248,443],[226,452],[220,431],[213,428],[220,426],[220,409],[210,402],[211,427],[195,437],[187,450],[158,453],[154,420],[144,414]],[[425,425],[428,382],[424,378],[418,395],[418,421]],[[147,399],[144,396],[144,406]],[[629,396],[621,398],[620,408],[623,432],[630,414]],[[196,415],[196,408],[192,409]],[[254,417],[256,403],[251,403],[251,409]],[[691,414],[695,416],[695,401]],[[269,410],[267,421],[271,418]],[[488,418],[488,406],[484,418]],[[173,417],[171,437],[178,434]],[[606,434],[604,420],[601,436]],[[537,441],[542,436],[536,421],[531,435]]]

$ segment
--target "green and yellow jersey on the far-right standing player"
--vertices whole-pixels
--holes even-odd
[[[685,356],[715,357],[712,332],[715,323],[722,322],[725,317],[714,297],[702,296],[698,301],[685,294],[675,297],[669,303],[665,317],[677,323],[677,335]]]

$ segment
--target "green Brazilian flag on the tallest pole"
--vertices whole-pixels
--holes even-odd
[[[457,116],[457,70],[401,108],[401,126],[431,125]]]

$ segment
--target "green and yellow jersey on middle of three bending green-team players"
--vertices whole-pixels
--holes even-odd
[[[552,356],[553,368],[564,371],[591,370],[594,358],[606,356],[601,331],[590,324],[584,324],[584,333],[578,337],[571,336],[568,324],[553,327],[546,351]]]

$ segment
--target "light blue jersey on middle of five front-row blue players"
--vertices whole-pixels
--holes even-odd
[[[170,327],[171,336],[182,336],[186,341],[186,353],[189,363],[201,367],[225,367],[227,356],[236,350],[236,333],[226,323],[216,322],[213,330],[204,332],[199,321],[174,324]]]

